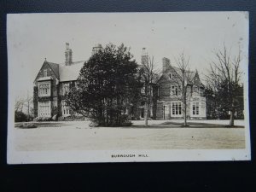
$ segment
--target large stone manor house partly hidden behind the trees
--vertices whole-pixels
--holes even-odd
[[[101,44],[93,47],[92,54],[99,49],[102,49]],[[148,61],[148,55],[145,51],[142,55],[143,61]],[[71,86],[75,86],[83,65],[84,61],[73,61],[73,51],[69,48],[69,44],[66,44],[64,63],[53,63],[45,59],[34,80],[35,117],[50,118],[55,114],[60,114],[61,118],[65,118],[71,115],[71,110],[65,102],[65,95]],[[163,58],[162,67],[160,78],[152,85],[154,87],[152,93],[154,102],[149,108],[149,116],[152,119],[182,119],[183,103],[177,99],[180,91],[178,86],[173,84],[174,74],[178,73],[179,69],[173,67],[167,58]],[[191,74],[193,80],[189,82],[187,116],[191,119],[205,119],[205,87],[201,83],[197,71]],[[143,104],[135,111],[136,113],[130,113],[131,110],[127,109],[125,113],[130,114],[135,119],[144,118]]]

